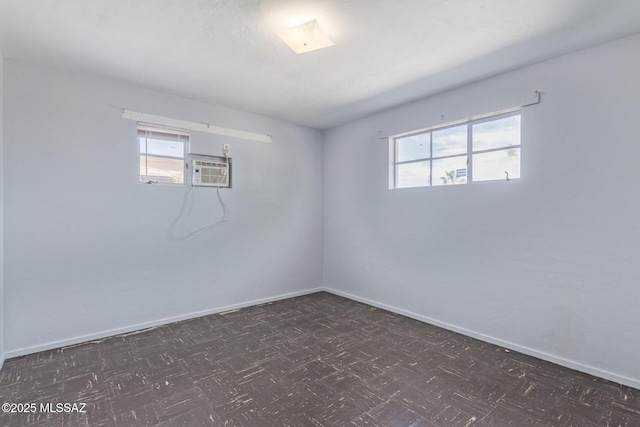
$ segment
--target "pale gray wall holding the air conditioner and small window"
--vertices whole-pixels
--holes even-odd
[[[7,356],[322,286],[321,132],[9,59],[4,78]],[[138,184],[122,107],[273,135],[192,135],[231,145],[230,222],[184,238],[188,187]],[[192,227],[218,219],[195,194]]]

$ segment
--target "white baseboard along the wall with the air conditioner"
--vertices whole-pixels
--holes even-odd
[[[196,311],[196,312],[188,313],[188,314],[182,314],[180,316],[167,317],[167,318],[164,318],[164,319],[158,319],[158,320],[154,320],[154,321],[151,321],[151,322],[138,323],[136,325],[131,325],[131,326],[125,326],[125,327],[122,327],[122,328],[111,329],[111,330],[107,330],[107,331],[98,332],[98,333],[95,333],[95,334],[82,335],[82,336],[79,336],[79,337],[74,337],[74,338],[69,338],[69,339],[64,339],[64,340],[59,340],[59,341],[51,341],[51,342],[48,342],[48,343],[45,343],[45,344],[36,345],[36,346],[33,346],[33,347],[25,347],[25,348],[20,348],[20,349],[17,349],[17,350],[7,351],[6,354],[4,355],[4,357],[6,357],[7,359],[10,359],[12,357],[24,356],[26,354],[37,353],[39,351],[52,350],[54,348],[60,348],[60,347],[67,347],[67,346],[70,346],[70,345],[80,344],[80,343],[87,342],[87,341],[95,341],[95,340],[99,340],[99,339],[102,339],[102,338],[111,337],[111,336],[114,336],[114,335],[126,334],[126,333],[130,333],[130,332],[139,331],[139,330],[142,330],[142,329],[152,328],[154,326],[166,325],[166,324],[169,324],[169,323],[179,322],[181,320],[194,319],[196,317],[208,316],[210,314],[223,313],[225,311],[237,310],[239,308],[249,307],[249,306],[252,306],[252,305],[266,304],[266,303],[273,302],[273,301],[280,301],[280,300],[287,299],[287,298],[294,298],[294,297],[298,297],[298,296],[302,296],[302,295],[308,295],[308,294],[312,294],[312,293],[315,293],[315,292],[321,292],[323,290],[324,290],[323,288],[307,289],[307,290],[304,290],[304,291],[291,292],[291,293],[288,293],[288,294],[278,295],[278,296],[275,296],[275,297],[262,298],[262,299],[257,299],[257,300],[253,300],[253,301],[242,302],[242,303],[239,303],[239,304],[227,305],[227,306],[224,306],[224,307],[216,307],[216,308],[211,308],[211,309],[208,309],[208,310]],[[3,361],[4,361],[4,357],[2,359]],[[1,365],[0,365],[0,367],[1,367]]]

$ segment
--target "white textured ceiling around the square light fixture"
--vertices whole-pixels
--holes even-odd
[[[274,31],[317,19],[335,46]],[[640,31],[640,0],[0,0],[4,57],[328,128]]]

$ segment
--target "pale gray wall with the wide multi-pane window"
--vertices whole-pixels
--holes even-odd
[[[640,386],[638,51],[636,35],[327,131],[325,286]],[[388,189],[379,130],[521,105],[534,89],[520,181]]]

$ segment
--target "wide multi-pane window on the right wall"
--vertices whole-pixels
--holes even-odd
[[[393,188],[520,178],[520,112],[391,139]]]

